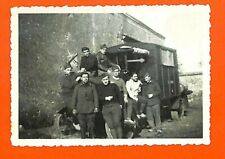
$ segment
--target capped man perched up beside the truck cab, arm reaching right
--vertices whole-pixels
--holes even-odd
[[[100,51],[97,53],[99,75],[103,72],[108,72],[109,68],[117,66],[106,56],[106,49],[106,44],[103,44],[100,46]]]

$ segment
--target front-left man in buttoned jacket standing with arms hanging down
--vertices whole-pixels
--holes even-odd
[[[86,138],[86,131],[89,138],[95,137],[95,113],[98,112],[98,105],[95,85],[89,82],[89,74],[83,72],[81,83],[75,87],[72,98],[73,113],[77,113],[82,139]]]

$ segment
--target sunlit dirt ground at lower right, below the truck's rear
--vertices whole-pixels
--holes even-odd
[[[186,115],[175,121],[164,121],[162,123],[161,135],[150,133],[147,129],[143,129],[140,138],[202,138],[203,122],[202,122],[202,104],[191,105]]]

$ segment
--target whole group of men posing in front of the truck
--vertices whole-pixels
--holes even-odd
[[[124,125],[135,125],[135,118],[147,118],[148,131],[162,133],[158,83],[148,73],[142,82],[136,72],[125,83],[106,50],[104,44],[91,54],[83,47],[79,71],[72,71],[70,60],[60,80],[65,108],[76,116],[81,138],[107,138],[105,123],[112,138],[123,138]]]

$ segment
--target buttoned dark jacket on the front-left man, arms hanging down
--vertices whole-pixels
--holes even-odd
[[[78,113],[93,113],[94,108],[98,108],[98,106],[98,94],[94,84],[80,83],[75,87],[72,97],[72,107]]]

